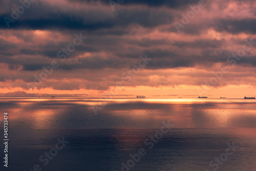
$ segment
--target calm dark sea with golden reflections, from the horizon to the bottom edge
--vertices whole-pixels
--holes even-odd
[[[256,170],[255,99],[0,100],[0,119],[9,115],[1,170]],[[167,121],[173,126],[159,134]],[[58,151],[57,138],[69,141]],[[236,146],[229,155],[228,143]],[[39,160],[50,152],[47,164]]]

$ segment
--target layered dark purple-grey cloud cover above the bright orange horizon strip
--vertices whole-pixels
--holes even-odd
[[[38,75],[43,66],[50,66],[51,61],[56,60],[59,67],[38,89],[106,90],[109,85],[114,86],[122,80],[122,73],[131,70],[139,56],[145,54],[152,60],[141,70],[140,74],[144,72],[144,75],[140,77],[138,74],[129,86],[142,83],[152,86],[154,83],[148,83],[152,82],[152,75],[161,77],[158,85],[170,85],[173,79],[165,79],[172,75],[167,73],[169,71],[188,78],[187,82],[191,84],[201,85],[203,78],[208,77],[201,73],[201,68],[208,72],[207,69],[218,70],[221,65],[232,65],[227,62],[227,57],[243,48],[245,37],[252,37],[255,42],[256,25],[253,1],[217,0],[211,1],[214,5],[208,3],[202,8],[178,33],[174,22],[180,22],[181,14],[187,14],[191,10],[189,6],[198,2],[125,0],[113,11],[109,0],[38,0],[8,28],[3,17],[10,17],[11,8],[16,9],[15,5],[20,4],[18,1],[1,1],[0,70],[6,74],[0,76],[0,88],[10,86],[28,90],[26,83],[33,82],[33,75]],[[245,10],[241,10],[243,8]],[[74,35],[79,33],[87,39],[75,47],[65,61],[60,61],[57,52],[72,44]],[[253,56],[256,45],[253,46],[236,64],[236,69],[246,71],[241,75],[239,72],[228,74],[225,78],[228,80],[219,85],[228,85],[237,76],[236,81],[244,79],[246,82],[247,71],[256,67],[256,57]],[[182,68],[177,69],[179,67]],[[157,69],[166,69],[166,73],[163,72],[166,75],[162,76]],[[197,76],[202,78],[195,80]],[[8,86],[1,82],[6,80]],[[105,83],[106,80],[109,82]],[[250,80],[248,84],[252,82]],[[177,79],[172,85],[182,83]]]

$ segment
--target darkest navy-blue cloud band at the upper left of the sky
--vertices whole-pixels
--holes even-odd
[[[72,4],[71,4],[72,5]],[[38,9],[36,15],[35,10]],[[45,10],[42,10],[45,9]],[[64,11],[58,7],[51,7],[45,3],[38,2],[33,4],[33,7],[27,9],[24,14],[10,23],[10,29],[73,29],[73,30],[98,30],[114,27],[126,27],[130,25],[140,25],[147,28],[157,27],[173,22],[172,14],[163,11],[152,11],[152,9],[122,9],[117,10],[113,14],[111,7],[108,10],[102,9],[99,11],[93,10],[77,10],[68,8]],[[11,18],[10,13],[0,15],[0,28],[7,29],[4,17]],[[109,31],[110,35],[124,34],[120,31]]]

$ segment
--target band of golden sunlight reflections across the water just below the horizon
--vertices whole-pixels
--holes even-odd
[[[57,127],[59,119],[80,126],[104,122],[115,128],[159,127],[159,123],[167,120],[181,128],[256,127],[255,100],[26,98],[7,104],[12,102],[14,105],[7,106],[11,118],[20,123],[27,119],[35,129]],[[97,117],[93,106],[102,107]]]

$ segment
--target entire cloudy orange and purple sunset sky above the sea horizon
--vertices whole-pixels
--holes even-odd
[[[255,96],[253,0],[2,0],[0,96]]]

